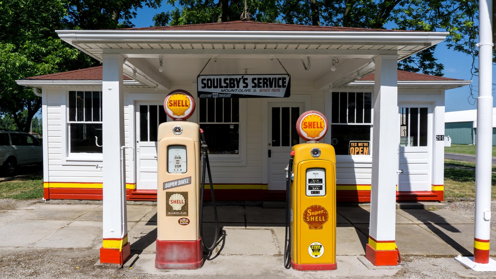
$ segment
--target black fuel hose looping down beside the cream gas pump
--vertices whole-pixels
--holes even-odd
[[[207,144],[205,142],[205,135],[203,135],[203,130],[200,129],[200,139],[201,139],[201,148],[203,149],[203,170],[201,174],[201,188],[200,188],[200,216],[199,216],[199,229],[200,229],[200,238],[201,244],[203,248],[207,251],[212,251],[217,246],[217,241],[219,241],[219,220],[217,218],[217,207],[215,206],[215,194],[214,194],[214,186],[212,184],[212,173],[210,172],[210,162],[208,161],[208,152],[207,152]],[[214,221],[215,221],[215,236],[214,242],[212,246],[208,247],[203,241],[203,193],[205,192],[205,167],[208,171],[208,181],[210,183],[210,193],[212,196],[212,205],[214,209]]]

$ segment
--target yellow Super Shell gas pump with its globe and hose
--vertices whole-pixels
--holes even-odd
[[[287,170],[284,266],[301,271],[334,270],[336,265],[336,156],[319,143],[327,119],[317,111],[297,121],[306,143],[293,146]]]

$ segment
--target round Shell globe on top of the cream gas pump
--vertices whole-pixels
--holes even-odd
[[[188,91],[174,90],[165,97],[164,110],[172,119],[188,119],[194,112],[193,96]]]

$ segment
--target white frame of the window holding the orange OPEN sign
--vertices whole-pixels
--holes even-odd
[[[370,123],[334,123],[332,122],[332,95],[333,93],[341,93],[345,92],[347,94],[349,93],[370,93],[371,94],[371,122]],[[336,159],[339,161],[353,161],[353,162],[370,162],[372,159],[372,146],[373,146],[373,135],[372,135],[372,128],[373,128],[373,101],[374,101],[374,92],[371,89],[365,89],[365,88],[357,88],[355,90],[349,90],[349,89],[336,89],[335,91],[330,91],[329,92],[329,101],[326,101],[327,107],[329,108],[327,115],[329,115],[329,132],[328,135],[326,136],[326,143],[331,144],[332,140],[332,134],[331,134],[331,127],[333,125],[336,126],[370,126],[370,149],[369,149],[369,155],[349,155],[349,154],[336,154]],[[356,114],[356,113],[355,113]],[[365,116],[364,116],[365,117]],[[331,144],[332,145],[332,144]]]

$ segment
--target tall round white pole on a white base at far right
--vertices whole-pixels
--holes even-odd
[[[493,32],[492,0],[479,1],[479,97],[477,98],[477,147],[475,161],[474,257],[456,261],[474,271],[496,271],[489,258],[491,232],[491,172],[493,145]]]

